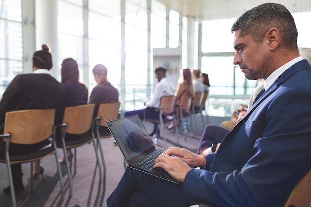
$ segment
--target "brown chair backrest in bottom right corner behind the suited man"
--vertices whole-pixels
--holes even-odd
[[[299,181],[284,207],[309,207],[311,203],[311,170]]]

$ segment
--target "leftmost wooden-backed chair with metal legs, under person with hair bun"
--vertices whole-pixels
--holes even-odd
[[[12,198],[12,207],[16,207],[15,191],[13,178],[11,173],[11,164],[31,163],[30,175],[34,161],[40,160],[46,156],[55,155],[56,166],[60,177],[62,199],[64,198],[64,188],[62,181],[62,173],[58,162],[55,144],[54,125],[55,109],[33,109],[7,112],[5,116],[4,134],[0,138],[4,139],[5,156],[0,156],[0,162],[6,163],[9,184]],[[9,153],[10,143],[15,144],[35,144],[46,139],[52,138],[52,144],[40,150],[29,152],[22,155],[13,155]],[[37,167],[37,175],[39,175],[39,166]],[[37,180],[39,187],[39,179]],[[32,176],[30,176],[30,185],[32,190]]]

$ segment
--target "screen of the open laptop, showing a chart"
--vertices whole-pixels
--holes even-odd
[[[137,114],[106,123],[126,160],[156,148]]]

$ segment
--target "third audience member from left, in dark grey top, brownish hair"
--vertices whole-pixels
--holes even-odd
[[[94,117],[97,116],[101,103],[116,103],[119,101],[118,89],[113,87],[107,78],[107,68],[103,64],[97,64],[93,68],[93,75],[97,85],[93,88],[89,103],[94,103]],[[110,135],[107,127],[99,127],[100,136]]]

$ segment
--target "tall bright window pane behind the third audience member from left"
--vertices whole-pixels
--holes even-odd
[[[121,22],[120,1],[90,0],[88,19],[89,35],[89,90],[96,86],[92,69],[103,64],[108,79],[119,89],[121,77]],[[106,6],[105,9],[103,6]],[[108,12],[106,12],[108,11]],[[120,90],[119,90],[120,91]]]

